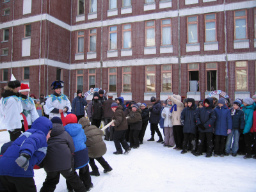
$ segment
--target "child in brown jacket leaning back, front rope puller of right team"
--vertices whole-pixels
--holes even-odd
[[[127,124],[124,111],[122,109],[122,106],[118,106],[118,104],[116,104],[115,102],[111,104],[111,109],[114,111],[114,116],[112,119],[115,120],[115,122],[112,122],[111,124],[115,128],[113,141],[115,143],[116,152],[114,152],[113,154],[115,155],[123,154],[122,147],[125,150],[125,154],[127,154],[129,153],[131,148],[128,145],[127,141],[125,140],[125,132],[128,128],[128,124]]]

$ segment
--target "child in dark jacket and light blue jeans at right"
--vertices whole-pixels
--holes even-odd
[[[240,100],[235,100],[233,104],[233,108],[230,109],[231,112],[231,117],[232,117],[232,130],[231,133],[228,134],[227,137],[227,143],[225,147],[225,156],[228,156],[230,153],[230,147],[232,140],[232,156],[236,157],[237,156],[237,150],[239,148],[239,136],[240,134],[243,134],[244,131],[244,111],[240,109],[241,107],[241,101]]]

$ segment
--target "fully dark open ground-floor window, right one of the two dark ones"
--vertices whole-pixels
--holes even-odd
[[[217,90],[217,63],[205,63],[206,65],[206,91]]]

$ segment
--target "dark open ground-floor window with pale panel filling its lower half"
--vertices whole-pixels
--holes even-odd
[[[189,92],[199,92],[199,64],[188,64]]]

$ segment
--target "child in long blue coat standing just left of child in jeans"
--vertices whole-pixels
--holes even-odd
[[[218,106],[214,109],[216,115],[214,130],[214,156],[224,157],[224,149],[227,135],[232,130],[232,118],[228,107],[225,105],[225,99],[221,97],[218,100]]]

